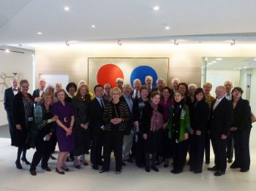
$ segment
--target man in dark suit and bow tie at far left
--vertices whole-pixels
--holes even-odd
[[[4,91],[4,109],[7,111],[7,120],[9,123],[11,144],[12,144],[12,146],[15,146],[16,125],[14,124],[13,115],[12,115],[12,101],[13,101],[14,96],[18,92],[20,92],[20,88],[18,87],[18,79],[12,78],[11,83],[12,83],[12,87],[7,88]]]

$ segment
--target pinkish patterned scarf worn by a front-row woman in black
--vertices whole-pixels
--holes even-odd
[[[162,119],[162,114],[160,114],[160,112],[158,112],[158,110],[157,110],[158,104],[154,104],[154,103],[150,102],[150,105],[153,108],[150,130],[154,132],[154,131],[159,130],[159,128],[162,127],[162,125],[164,124],[164,120]]]

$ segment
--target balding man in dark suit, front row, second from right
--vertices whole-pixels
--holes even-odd
[[[211,106],[211,144],[214,149],[214,167],[208,171],[216,171],[214,176],[222,176],[227,168],[226,147],[227,134],[233,121],[233,105],[225,98],[225,87],[218,86],[215,90],[217,99]]]

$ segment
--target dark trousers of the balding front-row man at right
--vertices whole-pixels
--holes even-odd
[[[221,139],[221,135],[211,135],[211,144],[214,149],[214,163],[218,171],[226,171],[227,168],[227,139]]]

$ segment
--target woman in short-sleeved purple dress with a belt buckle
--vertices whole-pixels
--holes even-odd
[[[65,174],[64,171],[69,171],[67,168],[66,160],[69,151],[74,149],[75,142],[72,133],[72,128],[75,122],[74,110],[72,105],[64,101],[67,93],[61,89],[56,92],[58,102],[53,104],[53,114],[58,117],[56,120],[56,137],[59,145],[59,156],[57,161],[56,172]],[[64,171],[62,171],[64,169]]]

